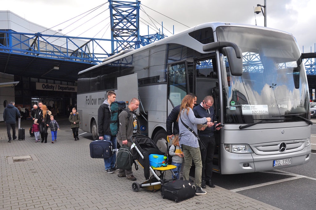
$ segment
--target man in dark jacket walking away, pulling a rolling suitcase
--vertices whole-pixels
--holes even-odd
[[[16,124],[16,117],[18,116],[21,118],[21,114],[19,112],[19,109],[14,106],[15,102],[11,101],[10,104],[4,109],[3,112],[3,120],[5,124],[7,125],[7,133],[9,141],[11,142],[11,133],[10,129],[12,128],[12,137],[13,140],[16,139],[16,133],[15,133],[15,124]]]

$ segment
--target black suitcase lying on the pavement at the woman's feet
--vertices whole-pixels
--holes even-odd
[[[180,202],[195,195],[196,186],[190,181],[177,179],[161,185],[161,196],[172,201]]]

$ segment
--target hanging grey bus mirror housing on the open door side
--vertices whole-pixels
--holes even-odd
[[[238,47],[240,55],[241,50]],[[242,56],[240,58],[237,58],[236,52],[233,47],[223,47],[223,54],[226,55],[228,59],[228,65],[230,69],[230,73],[233,76],[241,76],[242,75]]]

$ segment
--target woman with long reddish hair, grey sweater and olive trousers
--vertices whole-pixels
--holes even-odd
[[[210,122],[210,117],[196,118],[193,113],[194,97],[186,95],[181,102],[180,112],[178,115],[179,123],[179,145],[182,148],[184,155],[184,168],[183,168],[183,179],[189,180],[190,168],[192,160],[195,165],[195,184],[196,184],[196,195],[204,195],[206,192],[201,188],[202,184],[202,159],[197,137],[187,129],[190,127],[195,133],[197,133],[197,124],[203,124]]]

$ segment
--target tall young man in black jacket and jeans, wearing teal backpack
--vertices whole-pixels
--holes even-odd
[[[106,94],[107,99],[101,104],[98,109],[98,133],[99,140],[108,140],[112,142],[112,149],[117,148],[116,136],[112,136],[110,131],[110,114],[111,114],[111,104],[116,99],[116,93],[114,91],[108,91]],[[115,168],[116,153],[110,158],[104,158],[105,171],[112,174],[113,170],[118,170]]]

